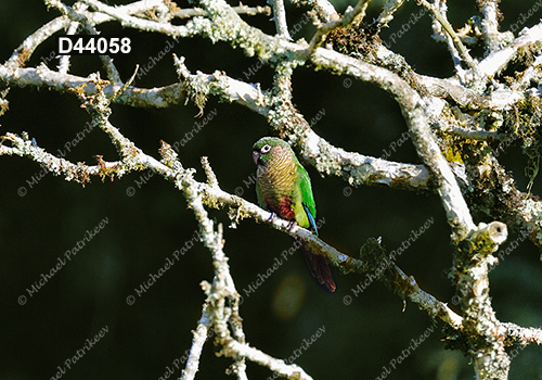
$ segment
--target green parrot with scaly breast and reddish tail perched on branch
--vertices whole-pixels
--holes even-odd
[[[281,218],[310,229],[318,237],[317,207],[309,174],[289,144],[275,137],[262,137],[253,145],[256,169],[256,195],[260,207]],[[335,292],[332,271],[325,257],[312,253],[307,244],[294,239],[312,276]]]

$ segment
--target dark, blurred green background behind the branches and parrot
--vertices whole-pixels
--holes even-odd
[[[188,3],[179,3],[189,7]],[[236,3],[235,3],[236,4]],[[249,3],[250,4],[250,3]],[[263,4],[260,2],[259,4]],[[351,3],[353,5],[353,3]],[[503,28],[516,23],[520,12],[532,8],[534,1],[503,1]],[[344,12],[347,3],[337,4]],[[374,3],[367,17],[377,15],[380,5]],[[300,10],[289,3],[291,27],[302,17]],[[397,33],[411,14],[420,12],[410,1],[398,12],[390,28],[382,33],[387,40]],[[450,21],[455,27],[476,14],[474,1],[450,3]],[[57,16],[39,1],[3,0],[0,5],[1,60],[37,28]],[[542,10],[525,26],[542,17]],[[274,24],[266,16],[248,17],[248,22],[267,33]],[[162,35],[122,29],[118,24],[99,26],[104,34],[129,36],[133,53],[115,58],[126,80],[136,64],[147,65],[150,55],[157,56],[167,41]],[[309,39],[313,27],[306,25],[295,39]],[[391,49],[403,54],[416,72],[439,77],[452,75],[452,65],[444,46],[430,38],[428,15],[416,23]],[[228,43],[211,45],[194,38],[175,42],[172,49],[186,58],[192,72],[224,71],[246,80],[248,67],[258,64],[241,50]],[[37,65],[54,49],[53,40],[40,47],[28,66]],[[49,62],[54,68],[57,61]],[[87,76],[100,69],[95,56],[73,60],[72,73]],[[272,71],[263,67],[249,81],[268,88]],[[374,86],[354,81],[345,88],[346,77],[324,72],[314,73],[301,67],[294,75],[294,101],[300,112],[311,119],[321,110],[325,116],[313,129],[331,143],[348,151],[380,156],[405,131],[397,104]],[[159,87],[177,80],[170,56],[162,60],[147,75],[137,79],[138,87]],[[10,111],[0,118],[0,132],[27,131],[41,148],[57,154],[73,140],[89,121],[74,96],[59,94],[46,88],[12,88],[8,99]],[[179,157],[185,167],[197,169],[196,178],[204,180],[199,157],[206,155],[222,189],[234,192],[241,187],[243,197],[255,202],[254,186],[246,186],[255,172],[250,159],[251,144],[268,135],[266,119],[232,104],[210,98],[205,115],[216,110],[216,116],[181,148]],[[111,122],[147,154],[158,157],[159,140],[180,141],[192,130],[198,110],[193,104],[166,110],[138,110],[113,105]],[[515,173],[517,186],[525,190],[525,159],[519,147],[501,154],[507,169]],[[93,164],[94,155],[106,161],[117,160],[108,137],[95,128],[66,159]],[[420,163],[408,141],[389,160]],[[191,346],[191,339],[205,300],[199,287],[212,279],[209,252],[195,244],[150,290],[139,297],[134,289],[157,274],[166,258],[184,246],[197,225],[193,213],[173,186],[158,176],[138,186],[144,173],[133,173],[114,181],[93,178],[92,183],[66,182],[52,174],[46,175],[30,188],[31,177],[41,167],[21,157],[0,157],[0,379],[50,379],[59,366],[77,354],[87,339],[107,326],[108,332],[82,358],[72,366],[62,379],[158,379],[173,368]],[[388,250],[397,249],[428,218],[435,223],[398,259],[399,266],[413,275],[418,283],[439,300],[452,303],[454,288],[446,277],[451,265],[450,229],[436,195],[397,191],[387,188],[351,188],[344,180],[322,178],[308,167],[312,177],[319,217],[325,217],[321,237],[337,249],[357,255],[369,237],[382,237]],[[25,187],[27,192],[20,197]],[[136,193],[128,197],[129,188]],[[533,188],[540,194],[540,180]],[[345,194],[350,194],[346,197]],[[229,226],[227,211],[211,211],[212,217]],[[48,273],[81,240],[87,230],[108,218],[106,227],[79,251],[37,293],[28,295],[40,275]],[[489,221],[476,216],[476,223]],[[508,242],[516,239],[512,233]],[[236,229],[224,228],[224,252],[238,292],[245,295],[258,274],[264,274],[283,250],[291,246],[288,237],[267,226],[245,220]],[[504,249],[506,244],[504,245]],[[322,334],[295,363],[314,379],[375,379],[383,366],[389,367],[418,339],[433,321],[416,305],[392,294],[379,282],[372,283],[356,296],[356,289],[365,276],[343,276],[333,269],[337,292],[330,294],[311,278],[299,254],[294,254],[256,292],[245,296],[241,306],[244,331],[248,343],[275,357],[287,358],[310,340],[319,328]],[[498,317],[521,326],[540,327],[541,264],[539,252],[524,242],[491,271],[491,295]],[[289,288],[288,288],[289,287]],[[289,289],[284,299],[281,290]],[[21,295],[27,297],[18,304]],[[136,303],[128,305],[129,295]],[[345,305],[345,296],[352,303]],[[297,296],[297,297],[296,297]],[[297,301],[296,301],[297,300]],[[281,301],[295,306],[284,315]],[[276,306],[279,304],[279,306]],[[452,305],[452,307],[454,307]],[[472,379],[468,358],[459,352],[444,351],[442,324],[405,358],[389,379]],[[230,359],[216,357],[216,347],[208,342],[201,359],[198,379],[222,379]],[[267,379],[271,372],[248,364],[250,379]],[[176,370],[175,377],[179,376]],[[514,359],[511,379],[542,379],[542,350],[529,346]]]

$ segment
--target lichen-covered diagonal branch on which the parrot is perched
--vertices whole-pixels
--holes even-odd
[[[105,97],[103,100],[105,101]],[[98,106],[98,110],[100,110],[98,104],[94,104],[94,106]],[[8,135],[9,138],[5,140],[12,141],[14,147],[0,145],[0,154],[18,154],[29,156],[52,172],[57,170],[54,173],[65,176],[67,180],[76,180],[80,182],[89,181],[91,175],[99,175],[102,177],[121,177],[131,170],[145,168],[152,169],[170,180],[181,178],[180,182],[179,179],[176,180],[180,189],[192,189],[190,190],[192,192],[194,191],[193,189],[198,189],[196,192],[198,195],[190,192],[190,194],[192,194],[191,197],[203,197],[208,206],[230,206],[232,210],[230,215],[233,220],[237,223],[242,218],[251,217],[257,223],[269,224],[278,230],[307,241],[309,246],[314,252],[325,255],[333,265],[341,268],[344,273],[361,274],[371,270],[371,268],[363,262],[337,251],[333,246],[314,237],[309,230],[306,230],[297,225],[292,227],[288,221],[280,218],[270,218],[269,212],[266,212],[255,204],[236,195],[231,195],[224,192],[218,187],[216,177],[211,175],[212,172],[210,170],[210,167],[208,167],[208,163],[206,161],[204,161],[204,167],[206,168],[206,173],[209,177],[209,183],[195,182],[191,179],[190,175],[190,173],[193,173],[193,169],[183,169],[182,165],[180,165],[180,163],[175,159],[175,155],[171,153],[171,149],[167,148],[167,145],[164,145],[163,148],[164,160],[163,163],[160,163],[133,147],[133,144],[108,122],[102,122],[102,124],[104,131],[111,136],[112,141],[117,145],[119,152],[125,157],[122,161],[117,163],[105,163],[100,161],[100,165],[94,167],[89,167],[83,164],[74,165],[63,159],[54,157],[52,154],[44,152],[41,148],[34,147],[28,137],[22,138],[12,134]],[[164,152],[169,153],[166,154]],[[62,160],[61,167],[63,167],[64,170],[59,170],[56,168],[57,165],[51,164],[55,163],[57,160]],[[76,173],[82,173],[85,176],[79,174],[77,177],[74,177],[73,172],[75,169],[78,170]],[[443,303],[437,301],[430,294],[421,290],[417,284],[415,284],[412,277],[406,277],[395,264],[390,275],[391,277],[388,278],[387,282],[397,284],[397,291],[402,294],[402,296],[409,297],[414,303],[417,303],[421,308],[428,312],[433,317],[441,318],[447,324],[457,328],[457,316],[455,316],[453,312],[451,312]],[[402,286],[399,287],[401,283]]]

